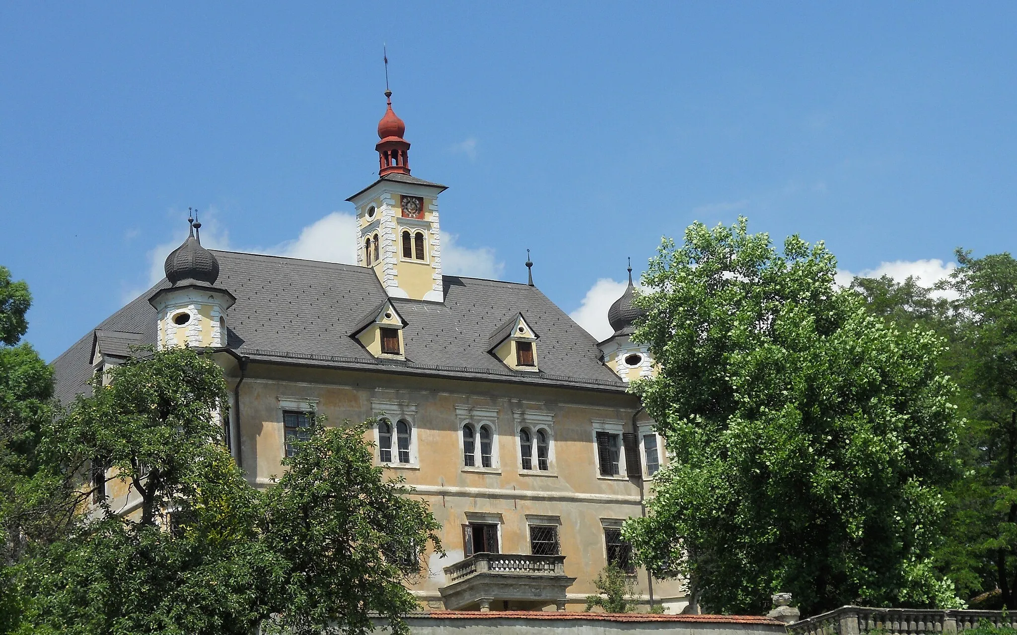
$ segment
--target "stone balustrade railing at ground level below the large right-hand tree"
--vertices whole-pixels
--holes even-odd
[[[933,635],[956,633],[986,620],[995,626],[1017,628],[1017,615],[1002,611],[936,611],[929,609],[871,609],[841,607],[789,624],[790,635]]]

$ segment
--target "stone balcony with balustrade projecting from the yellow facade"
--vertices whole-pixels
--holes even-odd
[[[565,575],[564,556],[474,554],[444,568],[448,584],[438,589],[445,609],[487,612],[505,606],[539,611],[554,605],[565,610],[565,589],[576,578]]]

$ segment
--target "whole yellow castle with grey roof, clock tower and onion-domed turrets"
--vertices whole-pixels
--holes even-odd
[[[597,342],[532,282],[441,270],[438,197],[410,174],[406,126],[378,123],[376,181],[348,198],[357,264],[207,250],[200,225],[166,259],[166,278],[54,362],[68,402],[131,345],[211,352],[230,389],[226,441],[254,487],[306,435],[310,412],[376,418],[375,460],[414,487],[441,523],[412,591],[429,609],[582,611],[609,563],[644,609],[680,613],[686,589],[631,561],[621,523],[644,513],[666,462],[629,382],[652,376],[632,342],[629,287]],[[109,482],[114,509],[139,504]]]

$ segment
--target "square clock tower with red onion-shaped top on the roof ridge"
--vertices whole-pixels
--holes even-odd
[[[438,194],[410,176],[406,124],[387,109],[378,122],[378,180],[346,199],[357,208],[357,264],[374,269],[390,298],[443,302]]]

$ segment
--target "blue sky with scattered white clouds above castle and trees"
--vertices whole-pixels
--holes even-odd
[[[853,272],[1012,249],[1012,2],[210,4],[0,5],[0,264],[47,359],[147,288],[188,206],[214,245],[343,259],[382,43],[455,267],[525,279],[530,248],[584,324],[696,219]]]

